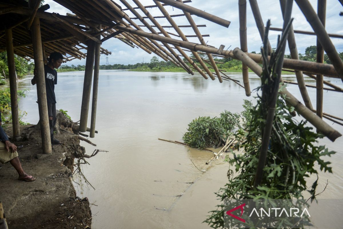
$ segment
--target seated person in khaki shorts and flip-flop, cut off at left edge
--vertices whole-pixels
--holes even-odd
[[[19,174],[18,180],[20,181],[34,181],[36,180],[35,177],[28,175],[24,172],[20,160],[18,158],[17,147],[11,143],[5,131],[0,126],[0,162],[2,164],[6,162],[10,162],[14,169]]]

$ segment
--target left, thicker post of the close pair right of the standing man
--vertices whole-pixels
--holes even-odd
[[[80,114],[80,132],[86,132],[87,130],[87,118],[88,118],[89,100],[91,97],[92,75],[93,75],[93,65],[94,65],[94,52],[95,52],[95,42],[93,40],[89,40],[88,48],[87,48],[87,57],[86,57],[85,77],[83,81],[83,93],[82,93],[81,114]]]

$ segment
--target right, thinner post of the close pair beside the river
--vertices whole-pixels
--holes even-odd
[[[101,29],[101,25],[99,25],[99,29]],[[98,39],[100,39],[100,35],[98,36]],[[98,101],[99,65],[100,65],[100,44],[95,44],[91,131],[89,134],[91,138],[94,138],[95,136],[96,105]]]

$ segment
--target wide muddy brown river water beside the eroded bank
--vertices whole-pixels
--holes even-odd
[[[240,112],[243,99],[254,100],[256,92],[247,98],[244,89],[233,82],[219,83],[187,73],[100,70],[99,75],[98,134],[90,138],[97,147],[81,144],[88,154],[94,149],[109,152],[100,152],[88,160],[90,165],[83,167],[96,190],[75,184],[78,195],[87,196],[94,204],[93,228],[208,228],[202,221],[210,210],[216,209],[214,192],[225,185],[228,164],[221,159],[206,167],[211,153],[158,138],[181,141],[192,119],[218,116],[224,110]],[[243,84],[241,74],[228,75]],[[24,121],[35,124],[37,92],[30,83],[31,77],[19,83],[19,89],[29,90],[19,107],[27,112]],[[55,87],[57,109],[68,111],[74,121],[80,119],[83,77],[82,71],[58,73]],[[253,73],[249,78],[251,89],[258,87],[259,78]],[[295,75],[283,78],[295,81]],[[340,79],[325,80],[343,87]],[[310,78],[306,78],[306,83],[315,85]],[[301,98],[297,85],[289,85],[288,90]],[[308,92],[316,107],[315,89],[308,88]],[[342,93],[324,91],[323,110],[342,117]],[[342,126],[332,126],[343,133]],[[342,139],[320,141],[337,151],[329,158],[333,174],[320,173],[319,192],[329,179],[321,198],[343,198]],[[207,172],[199,171],[193,163]]]

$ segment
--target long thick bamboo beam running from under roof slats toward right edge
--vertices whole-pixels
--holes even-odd
[[[128,33],[136,34],[142,37],[152,38],[152,39],[155,39],[156,41],[161,41],[161,42],[163,41],[168,44],[173,44],[180,47],[188,48],[190,50],[203,51],[205,53],[218,54],[221,56],[237,59],[237,57],[235,57],[235,55],[233,54],[232,50],[221,51],[217,48],[212,48],[209,46],[199,45],[199,44],[191,43],[191,42],[180,41],[177,39],[159,36],[159,35],[147,33],[144,31],[134,30],[133,28],[128,28],[128,27],[120,26],[120,25],[118,26],[118,29],[123,30]],[[247,53],[247,55],[250,58],[252,58],[254,61],[256,61],[257,63],[262,63],[262,56],[260,54]],[[294,59],[284,58],[283,67],[288,68],[288,69],[295,69],[295,70],[299,70],[303,72],[308,72],[308,73],[314,73],[314,74],[322,73],[324,74],[324,76],[339,78],[334,67],[329,64],[320,64],[320,63],[312,62],[312,61],[294,60]]]

